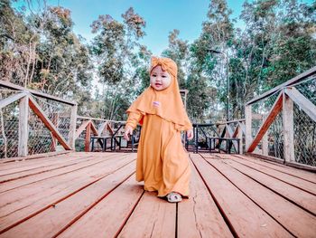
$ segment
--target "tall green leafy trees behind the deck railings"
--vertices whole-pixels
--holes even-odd
[[[36,11],[20,10],[12,3],[0,2],[1,79],[77,100],[81,115],[125,119],[125,109],[149,86],[144,18],[133,7],[121,20],[100,15],[86,43],[73,32],[70,10],[41,1]],[[238,29],[227,1],[212,0],[193,43],[170,32],[163,56],[178,65],[191,119],[227,119],[228,100],[230,119],[242,118],[247,100],[316,65],[315,10],[316,2],[245,2],[245,29]]]

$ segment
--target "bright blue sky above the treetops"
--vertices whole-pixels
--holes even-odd
[[[36,1],[34,1],[36,2]],[[49,5],[60,5],[70,9],[74,32],[82,35],[88,41],[94,34],[90,24],[98,19],[100,14],[110,14],[122,22],[121,14],[133,6],[135,13],[146,21],[144,43],[155,55],[160,55],[168,46],[168,35],[173,29],[180,30],[180,38],[192,43],[201,32],[201,24],[207,20],[209,0],[47,0]],[[228,0],[232,9],[232,18],[238,18],[245,0]],[[311,3],[311,0],[303,2]],[[18,1],[17,5],[23,5]],[[242,26],[241,22],[237,26]]]

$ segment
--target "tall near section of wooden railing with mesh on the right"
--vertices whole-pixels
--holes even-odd
[[[316,166],[315,76],[313,67],[246,103],[247,153]]]

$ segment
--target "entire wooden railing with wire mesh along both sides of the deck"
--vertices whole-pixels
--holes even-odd
[[[77,103],[0,81],[0,157],[90,151],[91,137],[122,135],[125,121],[77,115]],[[195,124],[195,150],[218,138],[223,150],[316,166],[316,67],[246,103],[246,118]],[[209,132],[206,131],[209,129]],[[224,145],[221,143],[224,141]],[[228,142],[227,142],[228,141]],[[244,143],[245,142],[245,143]],[[103,147],[101,140],[97,142]],[[117,141],[115,141],[117,143]],[[230,143],[230,142],[229,142]]]

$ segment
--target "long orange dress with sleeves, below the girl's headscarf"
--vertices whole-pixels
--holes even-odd
[[[136,180],[144,181],[144,190],[158,191],[158,196],[171,192],[189,196],[191,167],[188,153],[181,144],[181,132],[171,121],[141,112],[130,112],[126,126],[135,129],[141,119]],[[184,127],[191,129],[191,122],[186,121]]]

